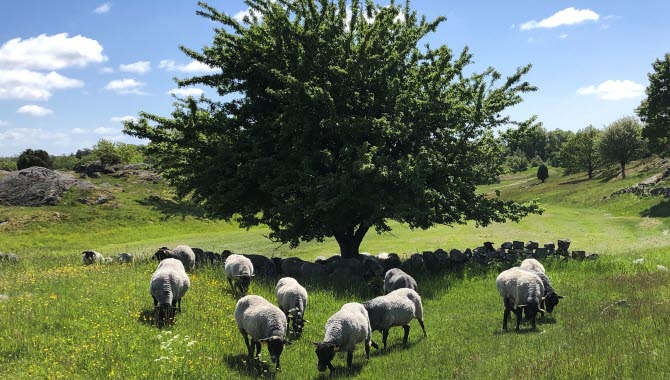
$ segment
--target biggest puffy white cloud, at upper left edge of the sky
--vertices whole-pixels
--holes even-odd
[[[67,33],[14,38],[0,46],[0,69],[59,70],[106,60],[98,41]]]

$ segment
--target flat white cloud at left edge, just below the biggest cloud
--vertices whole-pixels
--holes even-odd
[[[83,86],[84,82],[54,71],[43,74],[30,70],[0,69],[0,99],[48,100],[54,90]]]

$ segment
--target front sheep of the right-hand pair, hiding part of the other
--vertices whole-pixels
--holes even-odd
[[[540,308],[540,302],[544,294],[544,285],[542,285],[540,277],[532,272],[515,267],[500,273],[496,279],[496,287],[500,296],[503,297],[505,305],[503,330],[507,330],[507,319],[510,311],[514,311],[516,316],[517,331],[519,331],[519,325],[521,324],[522,311],[535,329],[537,312],[544,312]]]

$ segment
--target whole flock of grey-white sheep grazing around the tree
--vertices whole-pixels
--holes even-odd
[[[149,291],[154,301],[154,315],[159,327],[174,320],[175,311],[181,311],[181,299],[190,286],[187,275],[195,267],[196,254],[186,245],[174,249],[160,248],[154,258],[158,267],[151,277]],[[108,260],[94,251],[83,252],[84,264],[102,263]],[[118,261],[132,261],[132,256],[121,254]],[[277,305],[258,295],[246,295],[254,277],[254,265],[243,255],[231,254],[225,259],[224,270],[234,295],[241,297],[235,306],[234,317],[244,338],[250,359],[258,359],[261,346],[267,346],[270,359],[280,370],[280,356],[292,329],[295,336],[302,334],[307,308],[307,290],[292,277],[281,278],[276,285]],[[503,298],[505,312],[503,329],[511,312],[516,316],[519,330],[522,313],[535,329],[538,312],[551,313],[563,296],[556,294],[537,260],[526,259],[521,266],[502,272],[496,279],[498,293]],[[389,329],[402,326],[403,345],[407,344],[410,326],[416,319],[427,337],[423,323],[423,305],[417,293],[416,281],[399,268],[392,268],[384,275],[384,294],[364,303],[347,303],[333,314],[325,325],[321,342],[314,342],[318,357],[317,369],[333,370],[331,364],[337,352],[347,353],[347,367],[352,367],[353,351],[363,343],[366,359],[370,359],[370,346],[378,348],[372,341],[372,332],[382,333],[386,348]]]

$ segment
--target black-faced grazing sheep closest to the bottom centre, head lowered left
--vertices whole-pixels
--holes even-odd
[[[323,372],[326,368],[334,370],[331,364],[335,353],[347,352],[347,367],[351,369],[356,344],[365,343],[365,357],[370,361],[370,346],[375,349],[377,344],[372,342],[372,328],[368,312],[363,305],[356,302],[344,304],[342,308],[326,322],[326,334],[321,342],[313,342],[316,346],[316,356],[319,358],[317,368]]]

